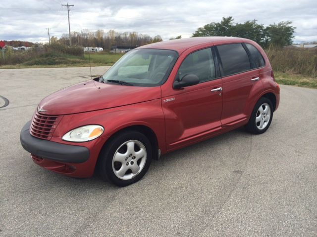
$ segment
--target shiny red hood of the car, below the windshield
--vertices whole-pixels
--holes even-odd
[[[108,109],[160,98],[160,86],[140,87],[94,80],[66,87],[44,98],[39,108],[47,115],[67,115]]]

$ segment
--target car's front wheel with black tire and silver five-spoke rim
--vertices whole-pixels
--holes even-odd
[[[116,134],[106,143],[99,157],[99,171],[104,180],[117,186],[139,181],[152,161],[149,139],[138,131]]]

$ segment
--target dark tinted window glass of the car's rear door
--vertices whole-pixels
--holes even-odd
[[[251,69],[248,54],[241,43],[217,46],[223,69],[223,76],[245,72]]]

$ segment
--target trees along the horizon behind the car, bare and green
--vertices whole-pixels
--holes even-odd
[[[227,36],[241,37],[254,40],[262,47],[269,46],[283,47],[291,45],[294,38],[295,27],[291,21],[282,21],[277,24],[273,23],[268,26],[259,24],[257,20],[245,21],[244,23],[234,23],[232,16],[223,17],[220,22],[211,22],[203,27],[199,27],[192,37],[203,36]],[[170,40],[181,39],[181,36],[171,38]],[[142,46],[149,43],[162,41],[162,38],[157,35],[151,37],[146,34],[137,32],[119,33],[114,30],[104,32],[104,30],[89,31],[87,29],[81,32],[71,32],[72,45],[83,47],[102,47],[105,50],[110,50],[111,46]],[[17,46],[32,46],[31,42],[18,40],[6,41],[8,45]],[[68,34],[63,34],[59,39],[51,37],[51,43],[59,43],[64,46],[69,46]],[[34,46],[37,46],[36,44]]]

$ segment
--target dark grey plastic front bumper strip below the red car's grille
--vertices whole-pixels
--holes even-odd
[[[65,163],[82,163],[88,160],[90,152],[87,147],[66,145],[33,137],[29,131],[30,123],[31,121],[24,125],[20,134],[21,145],[29,153]]]

